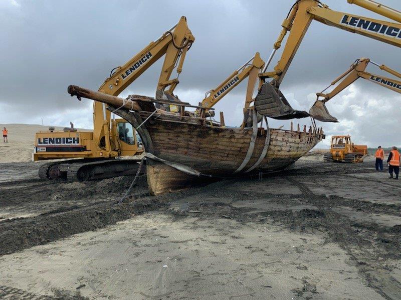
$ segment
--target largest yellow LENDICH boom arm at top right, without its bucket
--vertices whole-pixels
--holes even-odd
[[[391,17],[394,20],[399,21],[401,19],[400,12],[386,6],[377,5],[377,3],[376,6],[371,5],[373,1],[354,0],[351,2],[381,15]],[[317,0],[299,0],[293,5],[288,17],[282,23],[283,29],[273,46],[273,52],[266,63],[263,73],[259,74],[262,79],[272,77],[275,80],[275,86],[279,87],[312,20],[362,34],[398,47],[401,46],[400,23],[331,10],[327,5],[321,4]],[[279,62],[274,67],[274,71],[265,72],[275,51],[280,48],[287,31],[290,31],[290,34]]]

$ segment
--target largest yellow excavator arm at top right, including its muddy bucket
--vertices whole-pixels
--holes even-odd
[[[358,33],[395,46],[401,46],[401,12],[379,4],[372,0],[348,0],[378,14],[386,16],[395,22],[377,20],[347,12],[332,10],[319,0],[297,0],[291,7],[287,17],[282,23],[282,30],[274,43],[263,71],[259,74],[261,79],[258,95],[255,98],[255,109],[264,116],[276,119],[301,118],[309,116],[306,111],[295,110],[281,93],[280,84],[298,50],[310,23],[317,20],[323,24],[337,27],[353,33]],[[275,52],[287,32],[287,38],[281,58],[273,71],[266,71]],[[270,82],[265,82],[272,78]]]

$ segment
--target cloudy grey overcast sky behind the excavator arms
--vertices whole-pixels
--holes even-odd
[[[379,0],[401,9],[399,0]],[[267,59],[294,0],[31,1],[0,0],[0,123],[92,127],[92,103],[67,94],[76,84],[97,90],[110,70],[187,17],[195,42],[175,94],[196,104],[256,51]],[[331,9],[385,19],[346,0],[325,0]],[[283,48],[283,47],[282,47]],[[271,70],[281,51],[273,58]],[[309,110],[325,88],[358,57],[401,70],[400,49],[312,22],[281,84],[297,109]],[[161,61],[121,96],[154,96]],[[369,71],[382,74],[370,66]],[[226,123],[242,121],[246,80],[216,105]],[[358,79],[327,104],[339,123],[322,123],[327,135],[349,133],[357,143],[401,145],[401,96]],[[296,120],[297,121],[297,120]],[[300,119],[309,124],[308,118]],[[269,119],[271,127],[288,122]],[[326,139],[323,144],[327,144]],[[321,144],[322,145],[322,144]]]

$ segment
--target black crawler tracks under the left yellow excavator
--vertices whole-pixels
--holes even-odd
[[[139,167],[138,159],[71,159],[43,164],[39,177],[43,179],[67,179],[87,181],[117,176],[134,175]],[[146,168],[142,168],[144,173]]]

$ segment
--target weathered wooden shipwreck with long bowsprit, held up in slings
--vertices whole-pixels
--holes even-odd
[[[324,138],[320,128],[300,130],[226,127],[205,117],[205,108],[189,103],[132,95],[127,99],[70,86],[71,95],[107,103],[107,109],[129,121],[140,134],[146,152],[146,173],[152,194],[187,187],[195,180],[244,176],[284,169]],[[157,109],[174,104],[179,112]],[[195,107],[200,116],[186,111]],[[265,118],[266,120],[266,118]]]

